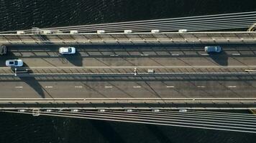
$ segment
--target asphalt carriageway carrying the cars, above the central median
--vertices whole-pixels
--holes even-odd
[[[224,45],[221,54],[207,54],[204,45],[76,46],[77,54],[63,56],[60,46],[9,46],[6,59],[26,66],[253,66],[254,44]]]

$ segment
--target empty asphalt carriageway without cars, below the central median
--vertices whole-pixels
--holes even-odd
[[[1,77],[1,98],[255,98],[256,76]]]

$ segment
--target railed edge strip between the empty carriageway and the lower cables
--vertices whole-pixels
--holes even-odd
[[[0,99],[0,109],[256,109],[255,98]]]

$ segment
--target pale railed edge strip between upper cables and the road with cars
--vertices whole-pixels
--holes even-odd
[[[256,32],[0,34],[0,44],[227,44],[254,43]]]

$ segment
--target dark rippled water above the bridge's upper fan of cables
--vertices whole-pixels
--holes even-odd
[[[0,0],[0,31],[255,11],[255,0]]]

